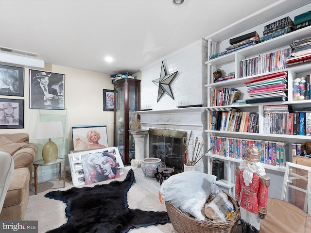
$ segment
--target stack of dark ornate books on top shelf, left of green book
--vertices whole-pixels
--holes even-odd
[[[260,38],[260,42],[273,39],[277,36],[290,33],[294,31],[294,22],[290,17],[285,17],[270,23],[264,27],[263,37]]]

